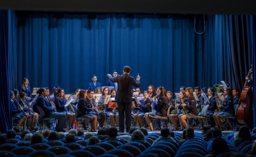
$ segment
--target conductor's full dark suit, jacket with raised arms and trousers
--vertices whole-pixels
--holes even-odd
[[[119,130],[124,132],[124,112],[126,113],[126,131],[130,130],[130,123],[132,117],[132,85],[139,87],[141,84],[139,79],[135,81],[132,76],[127,73],[117,75],[116,78],[110,76],[111,82],[117,82],[118,90],[115,95],[115,100],[118,101],[119,114]]]

